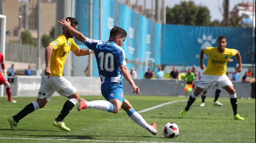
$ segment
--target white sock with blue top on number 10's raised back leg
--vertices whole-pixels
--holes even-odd
[[[96,100],[96,101],[90,101],[90,102],[86,101],[86,104],[87,104],[86,108],[94,108],[94,109],[99,109],[99,110],[108,111],[108,112],[113,111],[113,104],[105,100]]]

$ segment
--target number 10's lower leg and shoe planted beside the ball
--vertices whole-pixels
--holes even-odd
[[[137,123],[138,125],[140,125],[141,127],[145,128],[145,129],[147,129],[153,135],[157,134],[156,123],[152,123],[150,126],[143,119],[143,117],[133,109],[132,105],[130,104],[130,102],[127,99],[124,100],[121,108],[124,109],[124,111],[132,119],[133,122]]]

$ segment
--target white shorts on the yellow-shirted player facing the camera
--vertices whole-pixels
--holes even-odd
[[[219,88],[232,85],[227,75],[203,75],[198,81],[197,86],[203,89],[209,88],[213,83],[218,83]]]

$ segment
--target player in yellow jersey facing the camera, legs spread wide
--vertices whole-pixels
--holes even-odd
[[[212,83],[218,83],[220,88],[224,88],[230,94],[230,102],[234,112],[234,119],[244,120],[239,114],[237,114],[237,99],[236,91],[232,82],[228,79],[226,75],[227,62],[232,56],[236,56],[239,66],[238,72],[242,71],[242,60],[241,55],[236,49],[226,48],[227,38],[225,36],[220,36],[218,38],[218,47],[206,47],[201,50],[200,54],[200,67],[205,69],[204,65],[204,54],[209,55],[209,60],[207,62],[207,68],[204,72],[202,78],[198,81],[196,90],[190,95],[188,99],[188,104],[185,110],[182,110],[178,117],[182,118],[189,110],[189,107],[196,100],[196,97],[204,90],[207,89]]]

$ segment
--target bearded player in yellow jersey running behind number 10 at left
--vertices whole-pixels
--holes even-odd
[[[71,21],[71,26],[77,28],[78,21],[76,18],[68,17]],[[67,97],[59,116],[53,121],[53,125],[59,127],[61,130],[70,131],[63,122],[71,109],[76,105],[80,96],[76,88],[62,76],[63,67],[67,59],[68,53],[72,51],[76,56],[84,56],[93,53],[92,50],[79,49],[73,40],[73,35],[63,28],[62,34],[58,38],[48,44],[45,49],[45,70],[41,78],[41,86],[35,102],[28,104],[17,115],[8,119],[12,130],[18,130],[17,125],[20,119],[24,118],[31,112],[43,108],[56,91],[61,96]]]

